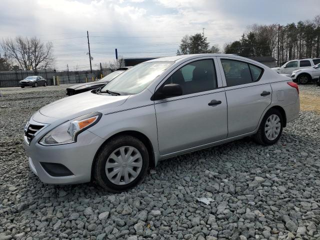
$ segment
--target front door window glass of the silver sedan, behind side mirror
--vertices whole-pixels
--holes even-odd
[[[197,60],[180,67],[165,80],[162,86],[170,83],[179,84],[182,88],[182,95],[216,88],[213,60]]]

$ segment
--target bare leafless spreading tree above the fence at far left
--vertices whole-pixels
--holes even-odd
[[[43,43],[39,38],[17,36],[2,39],[0,45],[8,57],[25,70],[50,68],[54,57],[52,42]]]

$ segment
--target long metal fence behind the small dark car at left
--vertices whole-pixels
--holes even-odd
[[[79,72],[80,73],[80,72]],[[32,75],[38,75],[42,76],[46,79],[47,85],[53,85],[53,76],[59,77],[60,84],[63,83],[79,83],[79,82],[85,82],[92,81],[92,77],[95,78],[95,73],[82,73],[82,74],[76,74],[76,75],[69,75],[67,76],[66,71],[1,71],[0,72],[0,87],[11,87],[11,86],[19,86],[19,81],[24,79],[27,76]],[[55,84],[57,84],[57,81],[55,81]]]

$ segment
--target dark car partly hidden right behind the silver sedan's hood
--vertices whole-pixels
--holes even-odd
[[[84,83],[79,83],[79,84],[70,86],[66,88],[66,94],[71,96],[77,93],[99,88],[105,85],[106,83],[108,83],[109,81],[111,81],[113,78],[115,78],[119,74],[121,74],[123,71],[129,69],[130,67],[131,66],[120,67],[116,69],[116,71],[113,71],[107,74],[105,77],[102,77],[100,80],[97,80],[97,81],[84,82]]]

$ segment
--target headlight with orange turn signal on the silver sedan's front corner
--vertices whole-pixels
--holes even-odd
[[[66,121],[46,133],[39,141],[41,145],[59,145],[76,142],[77,135],[97,123],[102,116],[92,112]]]

